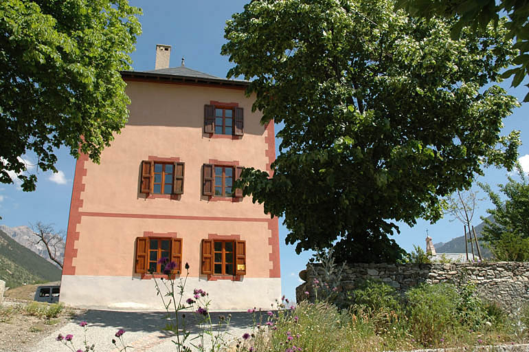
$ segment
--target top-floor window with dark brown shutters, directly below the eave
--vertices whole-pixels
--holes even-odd
[[[204,105],[204,132],[216,135],[243,135],[244,110],[240,107]]]

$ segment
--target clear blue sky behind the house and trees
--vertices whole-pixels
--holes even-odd
[[[144,15],[140,17],[143,34],[137,40],[137,49],[132,54],[135,70],[144,71],[154,69],[155,45],[167,44],[172,46],[171,67],[179,66],[181,58],[185,57],[185,66],[206,72],[214,76],[225,77],[231,67],[228,58],[221,56],[221,45],[225,43],[223,37],[224,24],[234,12],[243,10],[246,1],[203,0],[203,1],[131,1],[132,5],[141,7]],[[504,82],[508,88],[510,80]],[[509,89],[510,94],[519,100],[524,98],[526,87]],[[505,120],[503,133],[513,129],[521,130],[523,144],[519,148],[522,162],[529,170],[529,124],[526,116],[529,113],[525,104],[517,109],[513,115]],[[276,131],[277,131],[276,126]],[[276,141],[276,148],[278,142]],[[277,151],[276,151],[277,153]],[[524,155],[527,155],[524,158]],[[57,230],[66,230],[71,198],[72,181],[74,179],[75,160],[68,151],[58,151],[57,168],[59,174],[52,175],[34,170],[32,163],[34,155],[26,155],[28,168],[38,175],[37,190],[23,192],[19,184],[0,184],[0,224],[8,226],[27,225],[36,221],[54,223]],[[506,170],[491,168],[486,170],[485,177],[480,181],[495,185],[506,181]],[[484,193],[481,192],[482,197]],[[475,225],[479,223],[480,215],[491,208],[488,200],[479,204],[476,212]],[[434,239],[434,243],[449,241],[455,236],[462,235],[462,224],[457,221],[442,219],[431,225],[425,221],[418,221],[414,228],[401,226],[401,234],[395,236],[396,241],[405,248],[412,250],[413,245],[425,247],[426,231]],[[287,230],[280,225],[281,275],[283,294],[294,298],[295,286],[299,285],[297,273],[304,269],[310,255],[295,254],[294,246],[285,245],[284,238]]]

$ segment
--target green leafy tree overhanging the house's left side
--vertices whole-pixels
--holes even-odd
[[[0,1],[0,182],[36,187],[21,158],[36,154],[53,170],[55,148],[99,162],[128,119],[128,53],[141,10],[126,0]]]

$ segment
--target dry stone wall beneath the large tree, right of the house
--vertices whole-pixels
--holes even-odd
[[[321,281],[323,277],[321,268],[315,269],[319,274],[314,275],[309,267],[300,273],[306,282],[296,288],[298,302],[306,298],[304,292],[313,298],[311,283],[314,278]],[[366,279],[383,281],[401,294],[420,283],[463,285],[473,281],[481,298],[497,302],[509,311],[529,302],[529,263],[352,264],[345,267],[339,286],[351,291]]]

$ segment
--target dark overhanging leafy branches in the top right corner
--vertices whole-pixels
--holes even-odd
[[[500,14],[506,14],[508,38],[515,39],[515,48],[519,50],[513,61],[517,67],[504,72],[505,78],[513,76],[513,87],[517,87],[529,73],[529,2],[515,0],[400,0],[399,7],[406,8],[410,14],[425,18],[434,16],[455,17],[457,23],[451,35],[457,38],[462,28],[471,30],[486,28],[489,23],[498,25]],[[529,84],[526,85],[529,87]],[[524,102],[529,101],[529,93]]]

